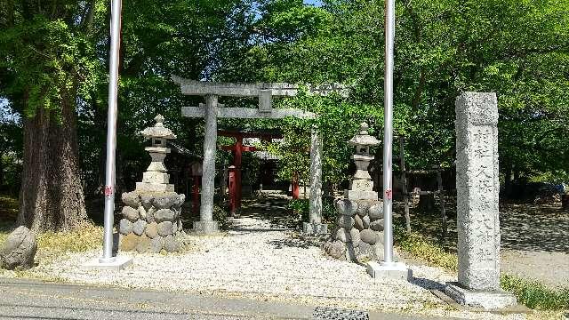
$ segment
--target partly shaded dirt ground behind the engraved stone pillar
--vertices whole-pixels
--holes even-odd
[[[445,248],[456,252],[456,204],[446,201]],[[501,204],[501,269],[553,287],[569,287],[569,213],[560,204]],[[403,212],[397,204],[396,212]],[[441,243],[439,212],[412,210],[412,228]]]

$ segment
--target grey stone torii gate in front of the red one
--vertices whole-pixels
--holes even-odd
[[[199,107],[182,107],[182,116],[204,117],[204,170],[202,176],[202,205],[200,220],[194,222],[196,233],[213,233],[218,230],[217,221],[213,221],[213,193],[215,178],[215,152],[217,140],[217,118],[266,118],[282,119],[293,116],[301,119],[313,119],[317,115],[294,108],[272,108],[273,97],[292,97],[300,91],[298,84],[261,83],[234,84],[196,81],[172,76],[175,84],[180,84],[184,95],[205,97],[205,104]],[[327,95],[338,92],[346,96],[346,88],[341,84],[308,85],[309,93]],[[218,103],[224,97],[258,97],[259,108],[224,108]],[[317,131],[311,132],[310,146],[310,213],[309,222],[303,223],[303,232],[309,235],[327,233],[327,225],[322,223],[322,140]]]

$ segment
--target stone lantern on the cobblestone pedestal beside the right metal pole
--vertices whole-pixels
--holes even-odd
[[[374,156],[370,155],[370,147],[380,144],[380,140],[367,134],[369,126],[360,125],[360,132],[349,140],[349,145],[356,147],[356,153],[351,157],[356,163],[357,171],[349,183],[345,197],[349,200],[377,200],[377,192],[373,191],[373,181],[367,171]]]

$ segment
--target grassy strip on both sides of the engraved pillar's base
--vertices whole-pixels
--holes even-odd
[[[395,237],[397,247],[415,258],[425,260],[432,266],[445,268],[456,273],[458,258],[452,252],[445,252],[439,244],[429,242],[421,234],[405,232],[401,226],[396,226]],[[502,274],[501,287],[512,292],[519,303],[536,310],[568,310],[569,288],[552,289],[536,281],[528,281],[519,276]]]

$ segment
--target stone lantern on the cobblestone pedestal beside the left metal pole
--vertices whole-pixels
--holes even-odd
[[[170,175],[164,166],[164,158],[170,153],[166,148],[167,140],[176,139],[172,131],[164,127],[164,116],[154,118],[156,124],[140,132],[145,138],[152,140],[152,147],[144,148],[150,154],[152,161],[147,172],[142,174],[142,182],[136,183],[140,192],[173,192],[174,186],[169,184]]]

